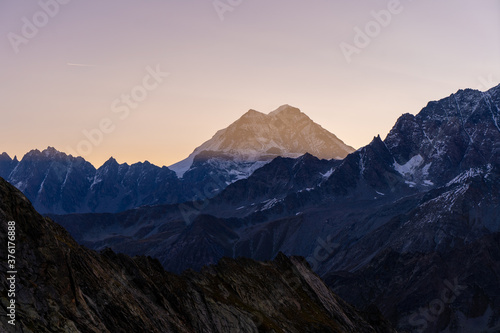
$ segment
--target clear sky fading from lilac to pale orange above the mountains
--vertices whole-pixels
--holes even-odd
[[[212,0],[72,0],[43,22],[51,1],[0,2],[0,152],[11,156],[77,151],[109,119],[88,161],[170,165],[248,109],[282,104],[359,148],[430,100],[500,83],[498,0],[401,0],[350,63],[340,44],[394,0],[241,0],[224,20]],[[34,16],[41,27],[16,53],[9,33]],[[157,65],[170,75],[121,119],[111,104]]]

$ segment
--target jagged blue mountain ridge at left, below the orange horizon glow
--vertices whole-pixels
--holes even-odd
[[[173,171],[147,161],[129,166],[110,158],[96,170],[83,158],[52,147],[32,150],[20,162],[9,164],[5,155],[1,160],[6,162],[0,161],[0,176],[41,213],[119,212],[192,198],[177,196],[181,185]]]

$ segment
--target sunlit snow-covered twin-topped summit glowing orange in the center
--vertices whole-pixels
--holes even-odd
[[[299,109],[282,105],[267,115],[249,110],[227,128],[215,133],[186,159],[169,168],[182,177],[196,160],[207,161],[214,157],[265,163],[277,156],[295,158],[305,153],[321,159],[343,159],[353,151],[354,148]]]

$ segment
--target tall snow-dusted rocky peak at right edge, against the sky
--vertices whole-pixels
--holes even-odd
[[[500,86],[460,90],[430,102],[416,116],[403,115],[385,139],[397,165],[442,185],[460,172],[499,162]],[[408,162],[413,162],[409,163]]]

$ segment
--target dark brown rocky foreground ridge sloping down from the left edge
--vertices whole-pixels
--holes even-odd
[[[223,259],[173,275],[149,257],[79,246],[0,179],[3,245],[8,221],[16,222],[16,325],[2,315],[2,332],[394,332],[339,299],[301,258]],[[6,272],[6,246],[0,257]],[[2,280],[4,310],[7,289]]]

